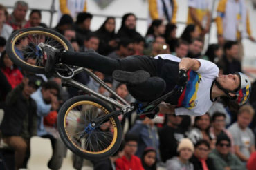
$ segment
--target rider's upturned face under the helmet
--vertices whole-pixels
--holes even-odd
[[[217,81],[224,89],[231,91],[237,89],[240,85],[240,78],[237,74],[221,75],[217,78]]]

